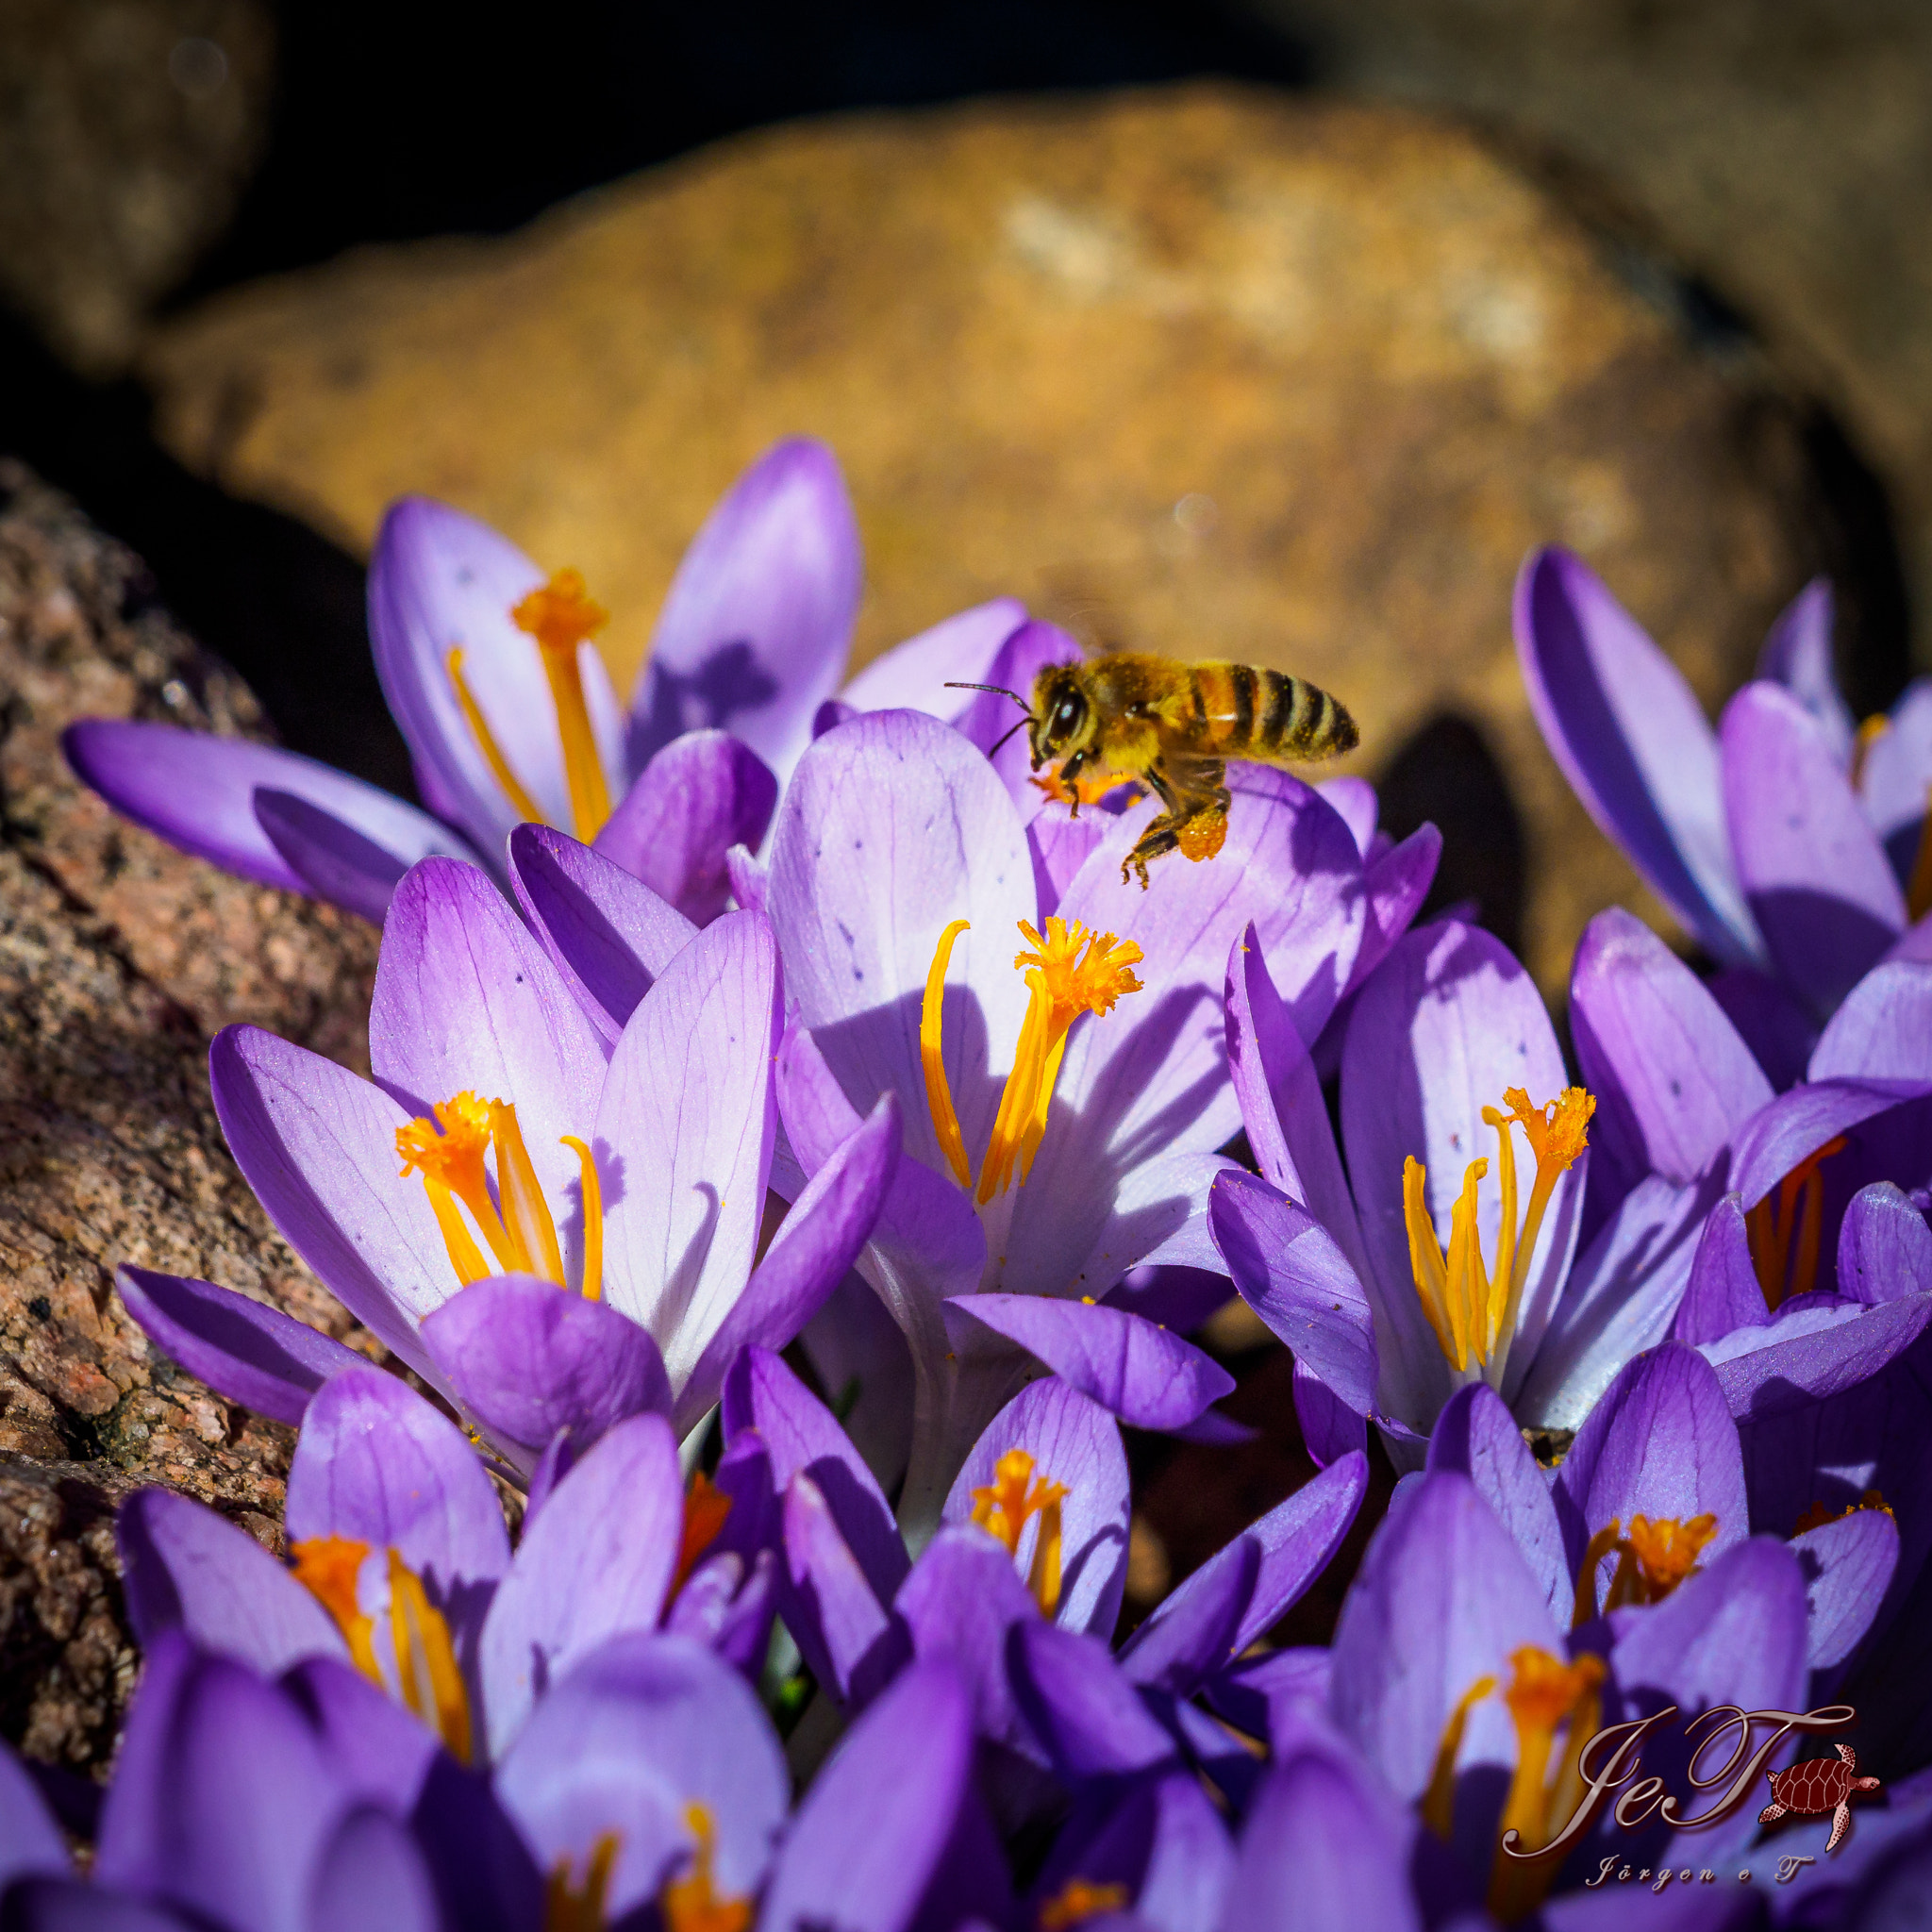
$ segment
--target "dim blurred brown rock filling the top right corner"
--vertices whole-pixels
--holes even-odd
[[[1350,91],[1582,160],[1828,396],[1899,510],[1932,663],[1924,0],[1244,0]]]

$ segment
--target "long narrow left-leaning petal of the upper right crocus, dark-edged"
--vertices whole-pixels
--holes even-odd
[[[1718,740],[1683,672],[1567,551],[1524,562],[1515,628],[1530,711],[1584,810],[1718,958],[1758,958]]]

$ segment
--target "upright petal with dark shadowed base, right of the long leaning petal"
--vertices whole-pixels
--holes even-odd
[[[1905,895],[1851,779],[1789,692],[1747,684],[1719,742],[1745,898],[1779,972],[1824,1016],[1905,931]]]

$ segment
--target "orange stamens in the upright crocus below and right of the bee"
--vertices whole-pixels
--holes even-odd
[[[1463,1194],[1449,1225],[1449,1252],[1435,1240],[1428,1208],[1428,1169],[1414,1157],[1403,1163],[1403,1217],[1408,1227],[1408,1265],[1414,1273],[1422,1312],[1430,1318],[1435,1343],[1457,1374],[1468,1374],[1470,1358],[1493,1383],[1509,1358],[1509,1337],[1517,1327],[1522,1285],[1528,1281],[1536,1236],[1557,1180],[1588,1146],[1590,1115],[1596,1099],[1582,1088],[1565,1088],[1544,1107],[1532,1107],[1522,1088],[1503,1094],[1509,1113],[1484,1107],[1486,1126],[1495,1128],[1497,1179],[1503,1188],[1503,1221],[1495,1248],[1495,1273],[1486,1271],[1482,1236],[1476,1229],[1476,1186],[1488,1175],[1488,1159],[1474,1159],[1463,1171]],[[1517,1223],[1517,1153],[1509,1138],[1519,1124],[1536,1155],[1530,1206]]]

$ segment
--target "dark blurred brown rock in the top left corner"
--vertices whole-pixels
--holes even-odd
[[[228,224],[272,83],[263,0],[0,0],[0,294],[77,369]]]

